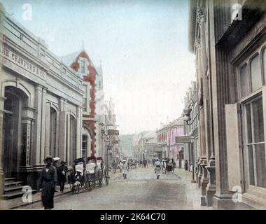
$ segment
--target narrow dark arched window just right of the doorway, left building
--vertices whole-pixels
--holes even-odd
[[[56,155],[56,135],[57,135],[57,112],[52,107],[50,108],[50,155]]]

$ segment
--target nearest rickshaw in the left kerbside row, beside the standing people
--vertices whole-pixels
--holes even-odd
[[[84,167],[85,160],[83,158],[73,160],[73,171],[69,176],[69,185],[73,194],[77,194],[85,188]]]

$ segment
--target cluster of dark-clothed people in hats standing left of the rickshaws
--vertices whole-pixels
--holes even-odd
[[[52,158],[48,155],[45,160],[45,167],[41,170],[41,177],[39,181],[38,189],[41,190],[41,200],[43,202],[44,209],[53,209],[54,207],[54,195],[57,186],[57,181],[60,186],[60,191],[64,192],[64,183],[66,182],[66,162],[61,161],[60,166],[57,167],[59,158]]]

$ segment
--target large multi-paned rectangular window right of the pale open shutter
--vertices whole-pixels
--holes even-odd
[[[257,97],[244,104],[244,109],[249,185],[266,188],[266,158],[262,97]]]

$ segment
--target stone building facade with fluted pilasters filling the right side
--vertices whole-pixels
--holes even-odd
[[[191,0],[189,36],[202,107],[202,204],[265,209],[265,1]]]

